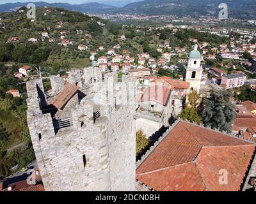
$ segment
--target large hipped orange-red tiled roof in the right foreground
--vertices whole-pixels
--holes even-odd
[[[178,122],[136,170],[136,179],[156,191],[238,191],[255,144]],[[219,183],[227,170],[228,184]]]

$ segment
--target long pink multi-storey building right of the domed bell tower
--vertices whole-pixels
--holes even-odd
[[[246,75],[234,73],[234,74],[223,76],[221,78],[221,85],[226,89],[232,89],[235,87],[243,86],[245,81],[246,81]]]

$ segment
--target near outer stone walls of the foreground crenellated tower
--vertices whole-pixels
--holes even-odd
[[[28,126],[45,190],[134,191],[135,106],[100,104],[102,113],[93,120],[95,104],[84,100],[68,106],[72,126],[55,133],[51,114],[43,114],[36,101],[35,85],[27,84]]]

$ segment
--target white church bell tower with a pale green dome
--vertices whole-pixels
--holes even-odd
[[[190,83],[190,89],[199,92],[203,69],[201,68],[201,54],[195,45],[189,54],[188,66],[185,67],[184,80]]]

